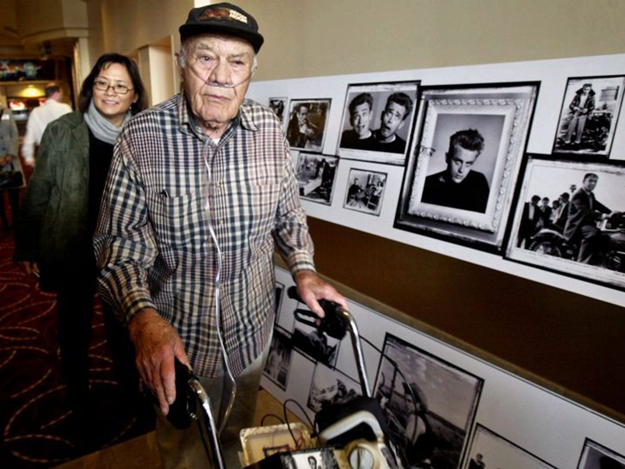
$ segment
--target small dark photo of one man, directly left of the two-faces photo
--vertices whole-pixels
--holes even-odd
[[[291,99],[286,139],[291,149],[321,152],[331,99]]]

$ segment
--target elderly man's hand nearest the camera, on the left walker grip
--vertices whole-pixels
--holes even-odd
[[[128,332],[136,351],[135,361],[141,379],[158,397],[163,415],[176,400],[174,357],[189,365],[183,341],[176,330],[159,314],[146,308],[128,323]]]

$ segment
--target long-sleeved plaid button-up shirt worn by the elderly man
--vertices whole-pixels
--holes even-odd
[[[194,372],[212,377],[221,360],[219,274],[222,337],[238,375],[271,333],[274,240],[292,273],[314,270],[289,147],[272,111],[246,99],[219,144],[196,125],[184,94],[124,126],[94,238],[99,293],[122,320],[154,308],[178,330]]]

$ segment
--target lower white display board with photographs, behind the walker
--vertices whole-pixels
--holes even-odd
[[[296,401],[286,405],[302,420],[313,420],[362,389],[349,338],[295,320],[294,311],[307,308],[287,295],[292,285],[288,271],[276,268],[276,326],[261,384],[279,400]],[[479,467],[471,463],[478,454],[492,468],[625,465],[622,422],[356,301],[348,305],[372,395],[411,467]]]

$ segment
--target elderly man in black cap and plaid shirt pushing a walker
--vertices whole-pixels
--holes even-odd
[[[237,376],[221,433],[236,467],[271,336],[274,240],[312,311],[323,315],[321,298],[347,305],[314,271],[281,124],[244,99],[263,42],[256,20],[219,3],[192,9],[179,31],[183,92],[129,121],[116,144],[94,238],[99,292],[127,323],[163,414],[174,357],[216,406],[221,376]],[[175,430],[159,415],[157,437],[164,467],[206,466],[195,426]]]

